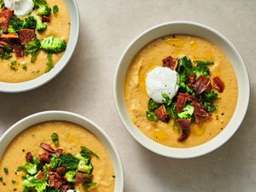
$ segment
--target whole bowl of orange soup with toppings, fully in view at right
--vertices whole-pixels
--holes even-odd
[[[114,77],[119,118],[156,154],[192,158],[227,142],[246,115],[247,68],[236,47],[209,26],[175,21],[143,32]]]

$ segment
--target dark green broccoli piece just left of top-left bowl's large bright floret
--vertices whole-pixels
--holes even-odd
[[[32,40],[31,42],[29,42],[28,44],[25,45],[25,51],[24,54],[25,55],[29,55],[31,54],[31,62],[33,63],[34,61],[36,61],[39,50],[40,50],[41,44],[40,41],[38,40],[38,38],[34,38],[34,40]]]

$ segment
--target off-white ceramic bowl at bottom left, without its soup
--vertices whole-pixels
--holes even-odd
[[[90,119],[83,116],[65,111],[45,111],[41,113],[32,114],[24,119],[21,119],[15,125],[12,125],[0,138],[0,159],[9,143],[20,134],[21,131],[26,130],[31,125],[49,120],[65,120],[83,126],[86,130],[92,132],[107,148],[108,154],[111,157],[115,174],[114,192],[124,191],[124,171],[119,157],[119,153],[115,148],[113,142],[98,125],[93,123]]]

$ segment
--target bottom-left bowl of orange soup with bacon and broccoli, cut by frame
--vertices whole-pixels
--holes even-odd
[[[117,149],[98,125],[75,113],[35,113],[0,138],[1,191],[124,189]]]

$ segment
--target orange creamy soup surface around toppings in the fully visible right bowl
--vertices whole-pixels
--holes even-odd
[[[214,102],[218,109],[212,113],[212,119],[205,123],[190,125],[190,135],[187,140],[177,142],[179,133],[173,128],[173,119],[168,124],[151,122],[146,118],[148,110],[148,95],[145,79],[154,67],[163,65],[167,56],[178,57],[186,55],[192,60],[214,61],[209,66],[211,79],[218,76],[224,81],[223,93],[218,93],[219,99]],[[125,79],[125,103],[134,125],[140,131],[157,143],[174,148],[189,148],[206,143],[216,137],[229,123],[237,100],[236,74],[230,61],[218,46],[211,42],[189,35],[173,35],[156,39],[144,47],[131,61]]]

